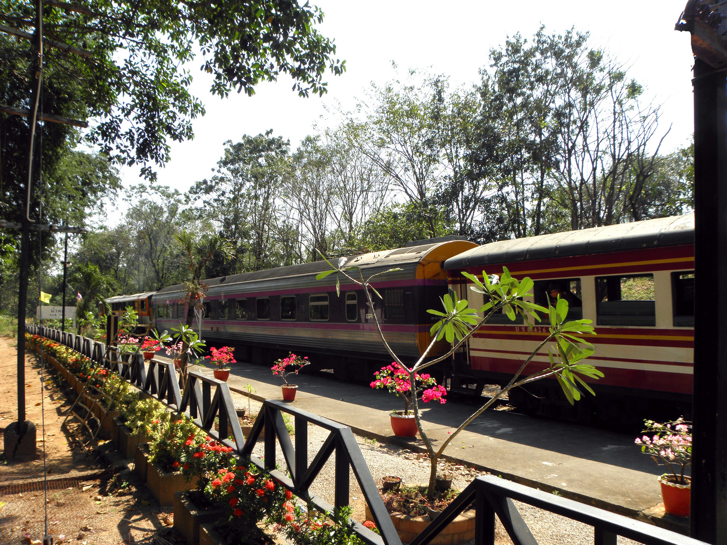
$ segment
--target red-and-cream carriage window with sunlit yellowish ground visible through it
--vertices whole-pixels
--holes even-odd
[[[656,326],[654,275],[595,279],[598,326]]]

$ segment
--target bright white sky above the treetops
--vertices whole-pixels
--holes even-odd
[[[292,81],[257,87],[254,97],[233,94],[226,100],[209,94],[209,79],[195,66],[192,92],[206,106],[194,122],[196,137],[172,143],[172,160],[158,172],[158,181],[187,190],[209,177],[223,142],[238,142],[243,134],[273,129],[296,148],[313,124],[335,124],[325,106],[340,102],[353,109],[371,81],[383,84],[396,76],[394,60],[403,77],[407,68],[451,77],[452,84],[479,81],[478,69],[488,63],[491,47],[520,32],[532,36],[539,25],[547,33],[563,33],[574,26],[590,32],[590,45],[603,47],[630,65],[628,75],[646,90],[645,97],[662,105],[662,128],[672,130],[662,151],[686,145],[694,130],[691,94],[693,63],[689,33],[674,30],[686,0],[310,0],[326,14],[319,29],[335,40],[337,57],[346,60],[343,76],[330,76],[324,97],[300,98]],[[140,181],[138,170],[121,169],[125,185]],[[111,224],[116,223],[108,218]]]

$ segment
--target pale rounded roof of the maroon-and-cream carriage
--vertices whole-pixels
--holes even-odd
[[[686,214],[483,244],[447,259],[444,269],[693,243],[694,214]]]

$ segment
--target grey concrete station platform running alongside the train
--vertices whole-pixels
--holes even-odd
[[[212,369],[199,371],[212,375]],[[402,440],[391,432],[389,413],[403,408],[400,398],[333,376],[301,374],[294,382],[299,387],[293,406],[346,424],[359,435],[424,451],[422,440]],[[252,385],[258,400],[282,399],[281,379],[265,366],[237,363],[228,384],[243,393],[246,384]],[[424,429],[435,445],[441,445],[475,411],[474,405],[462,403],[422,405]],[[644,520],[662,518],[656,477],[664,469],[641,453],[633,440],[631,434],[489,410],[457,435],[445,453],[468,467],[558,491],[611,512]],[[688,523],[686,519],[671,522],[668,525]]]

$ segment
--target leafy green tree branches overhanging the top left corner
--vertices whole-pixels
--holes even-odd
[[[30,1],[5,2],[4,23],[34,32],[34,5]],[[147,2],[81,0],[47,5],[44,28],[56,41],[84,49],[74,54],[47,48],[45,91],[58,89],[59,101],[45,113],[98,118],[88,133],[90,142],[122,164],[142,165],[142,174],[154,177],[150,165],[169,158],[167,139],[192,137],[191,121],[204,115],[200,100],[188,88],[192,81],[185,63],[201,55],[201,70],[212,74],[210,92],[226,97],[232,89],[254,94],[262,80],[281,74],[294,80],[301,96],[326,92],[326,68],[334,74],[345,62],[334,60],[336,47],[321,36],[316,24],[323,13],[290,0]],[[7,40],[9,41],[9,40]],[[16,100],[28,100],[26,73],[31,53],[28,41],[12,40],[6,50],[18,81]],[[71,84],[73,94],[62,95]],[[63,98],[61,98],[63,96]]]

